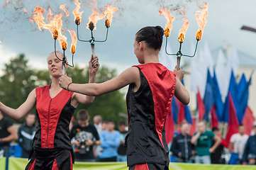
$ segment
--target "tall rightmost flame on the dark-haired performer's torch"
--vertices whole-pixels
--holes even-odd
[[[201,37],[204,32],[204,26],[206,26],[206,16],[208,16],[208,4],[206,2],[201,1],[204,4],[204,7],[200,7],[199,11],[196,11],[196,21],[199,25],[199,30],[196,33],[196,40],[201,40]]]

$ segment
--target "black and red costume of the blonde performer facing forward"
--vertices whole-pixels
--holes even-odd
[[[37,130],[33,151],[26,169],[72,169],[72,145],[69,138],[69,123],[75,108],[71,105],[73,92],[62,89],[50,97],[50,85],[35,89]]]

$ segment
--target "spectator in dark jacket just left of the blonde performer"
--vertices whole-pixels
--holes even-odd
[[[32,150],[35,131],[35,114],[28,113],[25,122],[18,128],[18,144],[22,148],[21,157],[23,158],[28,158]]]

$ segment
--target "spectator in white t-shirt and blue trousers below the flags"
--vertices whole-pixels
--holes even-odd
[[[245,134],[245,126],[239,125],[238,133],[233,134],[230,138],[228,149],[231,153],[231,157],[228,164],[242,164],[243,152],[248,137],[249,136]]]

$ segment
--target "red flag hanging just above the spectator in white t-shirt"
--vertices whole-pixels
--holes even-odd
[[[228,93],[228,132],[226,142],[229,143],[230,137],[238,132],[238,117],[236,115],[235,105],[230,92]]]

